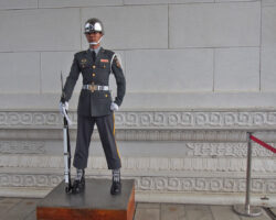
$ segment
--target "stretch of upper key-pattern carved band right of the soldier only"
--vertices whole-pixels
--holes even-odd
[[[276,112],[168,111],[118,112],[116,124],[131,128],[275,127]]]

